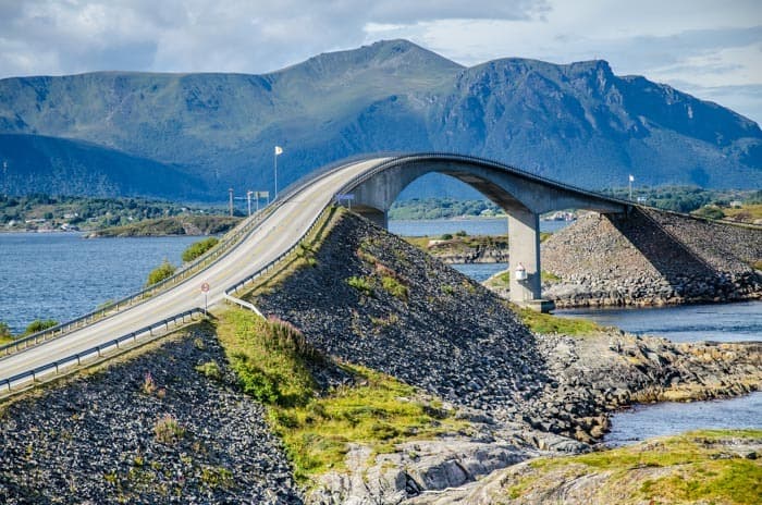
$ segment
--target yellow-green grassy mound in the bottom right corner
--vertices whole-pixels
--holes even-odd
[[[755,504],[762,496],[762,463],[733,445],[762,440],[762,430],[706,430],[637,445],[530,463],[531,470],[506,489],[520,498],[549,482],[570,482],[605,472],[591,502]],[[552,484],[551,484],[552,485]]]

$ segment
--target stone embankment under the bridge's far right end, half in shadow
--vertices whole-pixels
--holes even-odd
[[[557,307],[674,305],[762,297],[762,229],[636,208],[589,214],[542,246]]]

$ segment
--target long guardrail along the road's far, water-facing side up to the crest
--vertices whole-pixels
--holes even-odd
[[[373,157],[376,156],[377,155],[373,155]],[[76,319],[72,319],[70,321],[57,324],[54,327],[33,333],[24,337],[15,338],[13,342],[1,345],[0,358],[4,356],[10,356],[20,350],[24,350],[28,347],[33,347],[44,342],[61,337],[73,330],[78,330],[81,328],[93,324],[94,322],[114,316],[125,308],[145,303],[149,298],[164,291],[168,291],[171,287],[174,287],[175,285],[186,281],[187,279],[190,279],[192,276],[201,272],[206,268],[210,267],[212,263],[216,263],[220,259],[224,258],[234,248],[234,246],[247,238],[248,235],[262,221],[265,221],[265,219],[267,219],[281,205],[283,205],[296,193],[298,193],[304,186],[332,173],[341,167],[368,158],[369,157],[367,155],[355,156],[328,163],[321,167],[320,169],[311,171],[309,174],[290,184],[283,192],[281,192],[278,195],[278,198],[273,200],[269,206],[261,209],[259,212],[250,215],[249,218],[246,218],[241,224],[238,224],[233,230],[223,235],[222,239],[210,250],[196,258],[194,261],[182,266],[172,276],[161,282],[158,282],[151,286],[148,286],[144,290],[140,290],[137,293],[128,295],[122,299],[109,303]]]

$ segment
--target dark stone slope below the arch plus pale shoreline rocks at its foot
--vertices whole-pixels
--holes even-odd
[[[351,470],[321,479],[315,503],[402,503],[539,451],[585,451],[577,441],[597,440],[607,412],[638,401],[720,397],[762,383],[759,344],[675,345],[614,330],[534,335],[482,286],[352,214],[311,264],[251,301],[320,352],[438,395],[475,427],[450,449],[417,443],[369,458],[354,447]]]

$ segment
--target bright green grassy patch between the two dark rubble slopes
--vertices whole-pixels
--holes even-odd
[[[286,322],[231,309],[220,316],[218,336],[242,389],[267,406],[302,482],[342,468],[349,443],[380,453],[467,427],[414,387],[349,364],[334,366],[354,375],[354,385],[319,393],[310,369],[330,365]]]

